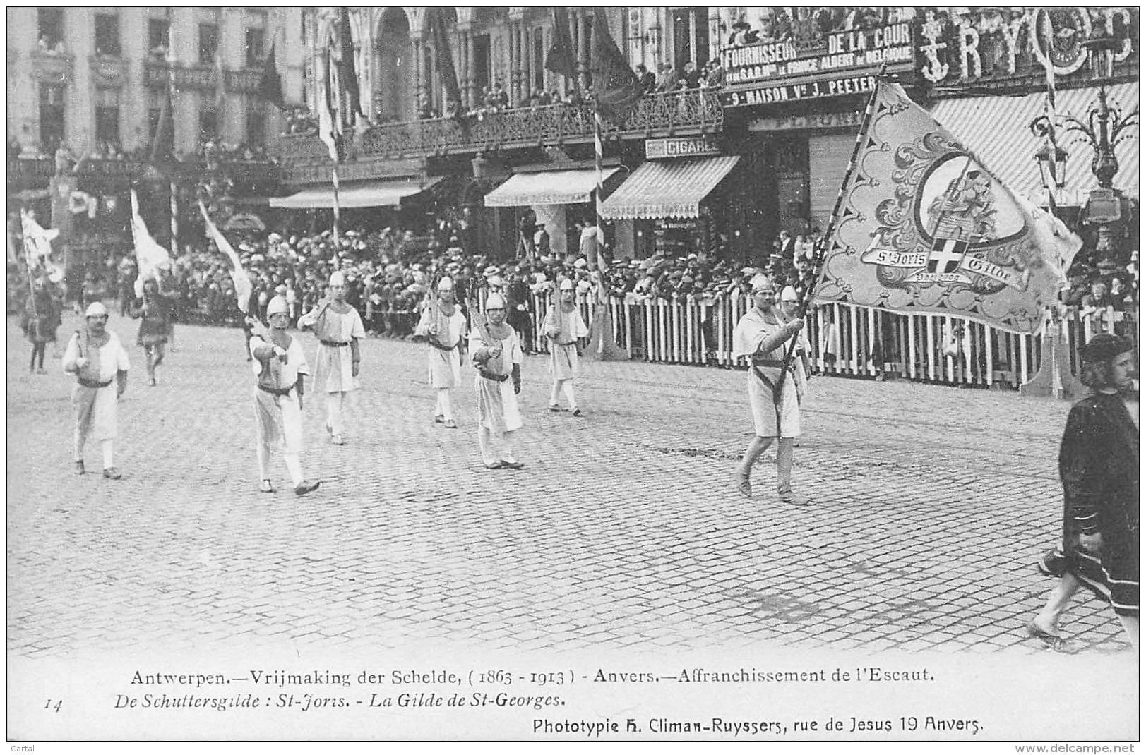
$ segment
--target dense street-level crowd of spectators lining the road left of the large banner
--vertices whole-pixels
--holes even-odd
[[[476,300],[484,291],[515,291],[524,310],[537,314],[534,297],[556,290],[571,278],[579,297],[596,296],[604,282],[610,296],[629,304],[665,299],[683,302],[688,297],[715,304],[760,272],[778,276],[803,290],[811,283],[811,239],[782,234],[768,257],[744,266],[709,260],[706,254],[681,258],[654,255],[645,260],[615,260],[603,272],[597,260],[582,253],[547,254],[497,260],[468,253],[461,238],[464,228],[440,221],[433,233],[415,236],[409,230],[346,230],[338,238],[330,231],[313,236],[283,237],[276,233],[248,234],[236,244],[253,291],[249,308],[257,315],[276,293],[286,299],[292,317],[312,308],[324,294],[330,274],[340,269],[347,278],[347,300],[362,313],[368,332],[409,337],[427,292],[445,275],[456,285],[460,301]],[[240,314],[226,259],[207,243],[187,245],[174,259],[164,290],[176,299],[178,318],[204,324],[236,325]],[[129,253],[109,260],[109,272],[95,272],[85,282],[93,294],[103,292],[120,300],[126,312],[136,277]],[[111,278],[109,282],[105,278]],[[541,313],[543,314],[543,313]]]

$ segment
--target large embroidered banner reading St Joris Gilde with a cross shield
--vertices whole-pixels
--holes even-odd
[[[1082,242],[1014,195],[898,85],[879,82],[815,297],[1042,328]]]

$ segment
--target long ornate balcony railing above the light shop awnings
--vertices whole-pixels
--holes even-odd
[[[716,91],[692,89],[643,97],[622,126],[606,123],[604,136],[615,140],[708,134],[720,132],[723,125],[724,111]],[[592,110],[587,105],[557,104],[382,124],[355,140],[351,159],[433,157],[591,140]],[[275,149],[283,165],[283,179],[291,182],[306,182],[312,174],[317,176],[319,172],[304,166],[330,159],[325,146],[313,135],[282,136]]]

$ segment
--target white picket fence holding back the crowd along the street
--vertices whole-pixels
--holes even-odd
[[[533,298],[533,348],[548,351],[541,330],[549,294]],[[670,364],[743,365],[732,357],[732,330],[752,306],[733,291],[723,299],[693,296],[680,300],[614,297],[598,305],[579,296],[581,315],[592,322],[597,306],[609,306],[614,341],[629,356]],[[1018,390],[1038,370],[1042,339],[1020,336],[953,315],[901,315],[847,304],[823,304],[808,314],[813,372],[859,378],[898,377],[941,385]],[[956,325],[966,336],[957,351],[944,348]],[[1072,372],[1078,371],[1078,348],[1098,332],[1137,333],[1138,312],[1089,308],[1068,312],[1063,337]]]

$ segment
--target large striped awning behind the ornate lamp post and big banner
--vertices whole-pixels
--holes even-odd
[[[1107,103],[1121,109],[1125,117],[1138,108],[1138,85],[1109,86],[1106,97]],[[1058,115],[1070,115],[1083,123],[1086,123],[1088,108],[1097,104],[1098,89],[1094,87],[1066,89],[1055,95]],[[932,116],[974,152],[1003,183],[1038,202],[1046,197],[1035,160],[1035,152],[1043,146],[1043,140],[1030,132],[1029,124],[1045,112],[1045,94],[1014,97],[991,95],[941,100],[932,108]],[[1114,148],[1118,158],[1114,188],[1137,198],[1138,126],[1127,133],[1128,137]],[[1069,133],[1060,127],[1057,135],[1059,147],[1067,151],[1068,157],[1066,186],[1055,192],[1055,199],[1061,205],[1085,204],[1090,190],[1098,188],[1098,179],[1091,172],[1094,150],[1077,133]]]

